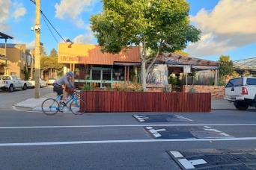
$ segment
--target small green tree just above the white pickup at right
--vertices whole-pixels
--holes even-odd
[[[233,74],[233,62],[229,60],[229,56],[221,55],[219,57],[219,62],[222,63],[219,68],[219,78],[222,81],[225,81],[226,75],[232,75]]]

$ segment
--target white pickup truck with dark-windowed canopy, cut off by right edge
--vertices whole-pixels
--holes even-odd
[[[224,99],[234,102],[237,110],[256,107],[256,78],[232,78],[225,86]]]

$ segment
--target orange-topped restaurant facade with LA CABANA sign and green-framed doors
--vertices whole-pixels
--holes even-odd
[[[129,83],[131,72],[140,66],[140,47],[134,46],[119,54],[103,54],[99,45],[58,44],[58,63],[64,63],[64,73],[75,74],[75,86],[112,86]]]

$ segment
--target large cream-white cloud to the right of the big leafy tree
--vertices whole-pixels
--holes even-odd
[[[256,1],[220,0],[211,11],[200,10],[191,21],[201,40],[187,47],[194,57],[223,54],[256,42]]]

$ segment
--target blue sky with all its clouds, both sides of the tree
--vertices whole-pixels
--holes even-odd
[[[34,0],[33,0],[34,1]],[[201,40],[189,43],[184,50],[190,57],[230,60],[256,57],[256,0],[187,0],[191,25],[201,30]],[[41,0],[40,42],[49,54],[58,51],[58,43],[95,44],[90,28],[91,15],[103,10],[100,0]],[[34,48],[35,4],[31,0],[0,0],[0,32],[14,38],[7,43]],[[0,40],[4,43],[4,40]]]

